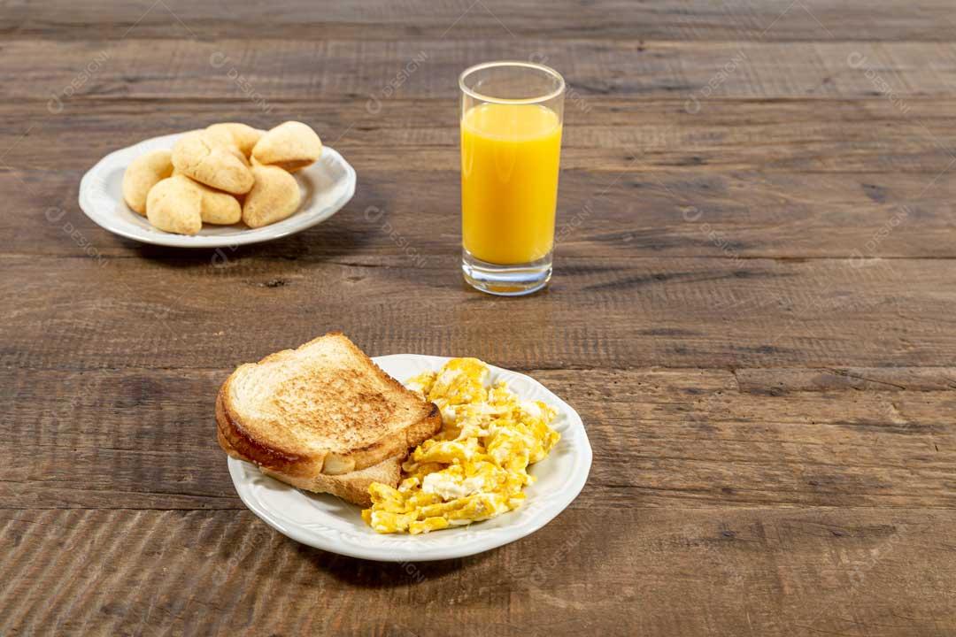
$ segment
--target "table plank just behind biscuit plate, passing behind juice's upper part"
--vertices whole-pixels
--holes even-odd
[[[107,153],[144,138],[217,120],[270,127],[290,118],[313,124],[328,144],[354,163],[359,177],[365,170],[404,174],[448,171],[457,164],[459,130],[453,99],[382,103],[374,114],[365,110],[365,103],[363,98],[282,102],[273,104],[272,113],[264,117],[244,102],[198,106],[177,101],[161,106],[152,101],[77,100],[57,116],[47,114],[39,102],[27,102],[0,109],[0,149],[4,149],[0,170],[85,171]],[[713,99],[696,113],[686,112],[684,105],[684,98],[606,102],[596,98],[588,102],[587,112],[569,105],[563,169],[654,177],[664,171],[685,171],[697,179],[716,179],[715,173],[725,177],[756,172],[920,173],[924,188],[956,158],[956,128],[947,115],[956,108],[952,99],[907,102],[905,114],[886,99]],[[163,115],[142,117],[143,110]],[[414,116],[402,115],[413,111]],[[595,191],[612,179],[600,177],[594,182]],[[371,183],[362,180],[360,185]],[[457,185],[457,179],[451,183]],[[815,191],[801,193],[803,201],[813,201]]]

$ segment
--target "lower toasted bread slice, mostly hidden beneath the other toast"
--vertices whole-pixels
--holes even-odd
[[[250,461],[250,458],[243,457],[228,443],[228,440],[223,436],[222,430],[218,426],[216,427],[216,437],[219,440],[219,446],[222,447],[229,456]],[[399,486],[399,480],[402,479],[403,459],[404,457],[389,457],[382,460],[379,464],[374,464],[365,469],[359,469],[359,471],[350,471],[340,476],[326,476],[325,474],[321,474],[315,476],[315,478],[294,478],[271,471],[266,467],[260,467],[259,469],[265,475],[272,476],[272,478],[281,480],[286,484],[291,484],[293,487],[306,491],[314,491],[315,493],[332,494],[347,502],[358,504],[361,507],[369,507],[372,506],[372,498],[368,493],[368,488],[372,485],[372,482],[381,482],[390,487]]]

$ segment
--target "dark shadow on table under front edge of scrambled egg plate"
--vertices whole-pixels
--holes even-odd
[[[337,555],[312,546],[286,539],[295,546],[295,552],[303,559],[336,578],[340,582],[362,588],[390,588],[408,584],[422,584],[426,580],[442,577],[448,573],[484,562],[497,549],[455,560],[436,562],[375,562]]]

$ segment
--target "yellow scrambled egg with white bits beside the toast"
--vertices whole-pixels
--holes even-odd
[[[405,385],[442,411],[443,429],[402,464],[398,489],[375,482],[362,519],[379,533],[427,533],[488,520],[519,506],[534,478],[528,465],[548,456],[560,435],[540,401],[518,399],[504,382],[486,387],[488,366],[454,358],[440,372]]]

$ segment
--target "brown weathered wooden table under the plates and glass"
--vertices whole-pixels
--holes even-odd
[[[956,634],[952,9],[4,3],[0,633]],[[554,281],[517,300],[458,270],[456,78],[500,58],[573,89]],[[77,207],[111,150],[286,119],[358,170],[328,223],[187,252]],[[584,491],[445,563],[273,532],[213,396],[329,329],[532,374]]]

